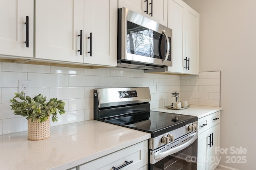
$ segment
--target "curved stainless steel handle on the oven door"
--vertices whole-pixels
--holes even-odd
[[[182,145],[179,145],[178,147],[172,148],[170,150],[167,150],[165,152],[155,154],[154,159],[164,158],[166,156],[169,156],[169,155],[172,155],[176,152],[179,152],[182,149],[185,149],[186,147],[191,145],[197,139],[197,135],[198,135],[198,133],[196,132],[196,133],[192,134],[193,137],[189,141],[187,141],[186,143],[184,143]]]

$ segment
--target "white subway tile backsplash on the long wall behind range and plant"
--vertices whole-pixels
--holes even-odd
[[[0,63],[0,135],[27,130],[25,117],[11,111],[10,99],[18,92],[18,80],[31,80],[31,96],[66,102],[62,116],[51,126],[93,119],[93,89],[97,87],[149,86],[150,107],[170,105],[172,92],[180,92],[180,76],[144,73],[126,68],[65,68],[32,64]],[[160,92],[156,92],[160,82]]]

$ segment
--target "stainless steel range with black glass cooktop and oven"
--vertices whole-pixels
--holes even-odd
[[[148,132],[149,170],[196,170],[198,118],[150,110],[150,90],[94,89],[94,119]]]

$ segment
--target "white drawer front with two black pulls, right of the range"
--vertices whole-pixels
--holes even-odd
[[[220,123],[220,111],[198,119],[198,134]]]

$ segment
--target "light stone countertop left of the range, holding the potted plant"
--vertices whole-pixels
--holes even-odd
[[[149,139],[150,133],[89,120],[51,127],[51,136],[27,131],[0,135],[0,170],[64,170]]]

